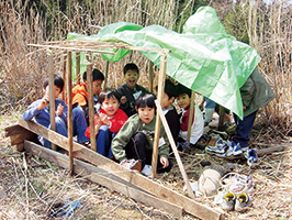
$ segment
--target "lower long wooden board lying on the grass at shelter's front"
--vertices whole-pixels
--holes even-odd
[[[25,141],[25,150],[27,153],[38,155],[63,168],[68,168],[68,156],[64,154],[57,153],[44,146],[40,146],[30,141]],[[179,206],[143,191],[142,189],[136,188],[134,185],[127,184],[123,179],[109,175],[105,170],[99,167],[92,166],[79,160],[75,160],[74,163],[74,172],[79,176],[86,176],[88,179],[105,186],[113,191],[121,193],[142,204],[167,211],[168,213],[172,213],[177,218],[182,216],[182,208]]]

